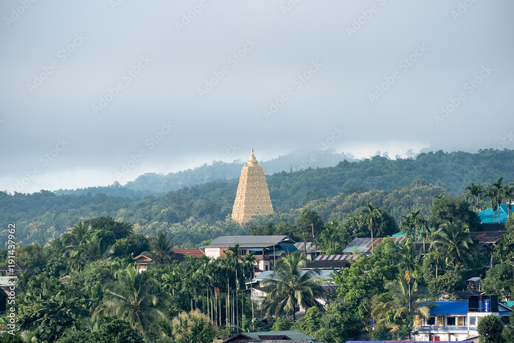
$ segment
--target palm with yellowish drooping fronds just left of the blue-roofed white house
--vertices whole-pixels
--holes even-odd
[[[374,317],[382,317],[377,320],[377,324],[387,320],[385,316],[389,311],[394,311],[394,321],[389,324],[392,325],[393,332],[400,329],[401,324],[398,320],[408,320],[411,316],[423,316],[426,319],[430,318],[430,308],[433,306],[433,298],[426,292],[423,287],[417,285],[414,281],[412,290],[410,287],[411,282],[402,273],[398,274],[396,281],[390,281],[386,284],[386,289],[391,294],[391,299],[381,299],[378,306],[372,311]],[[411,323],[408,323],[412,327]],[[409,332],[409,339],[411,332]]]

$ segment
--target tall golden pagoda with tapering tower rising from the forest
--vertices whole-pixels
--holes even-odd
[[[258,163],[252,148],[250,158],[241,171],[232,209],[232,219],[240,224],[248,222],[252,215],[273,213],[264,169]]]

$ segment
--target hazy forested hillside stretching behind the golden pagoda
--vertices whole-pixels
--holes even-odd
[[[292,223],[303,207],[315,209],[324,221],[340,221],[368,202],[386,210],[399,225],[400,215],[406,211],[419,209],[427,215],[434,195],[464,194],[470,182],[492,184],[499,175],[514,179],[514,151],[439,151],[397,160],[375,156],[359,162],[342,161],[335,167],[276,173],[267,176],[276,213],[244,227],[229,219],[238,179],[163,195],[142,196],[141,191],[119,184],[98,193],[0,192],[0,222],[4,223],[0,233],[6,233],[7,223],[16,223],[20,242],[45,244],[79,220],[111,216],[134,224],[134,229],[145,235],[170,230],[178,245],[188,247],[222,234],[249,232],[250,226],[268,221]]]

